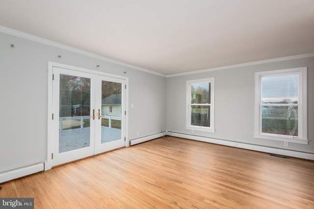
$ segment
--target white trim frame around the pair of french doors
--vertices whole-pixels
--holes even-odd
[[[83,69],[83,68],[78,68],[74,66],[69,66],[69,65],[64,65],[60,63],[54,63],[54,62],[48,62],[48,136],[47,136],[47,164],[45,165],[45,170],[49,170],[52,168],[52,147],[53,147],[53,139],[52,139],[52,77],[53,77],[53,67],[57,68],[63,68],[63,69],[68,69],[68,70],[76,70],[80,72],[87,72],[87,73],[92,73],[95,75],[102,75],[106,77],[112,77],[112,78],[119,78],[125,80],[126,87],[129,86],[129,78],[124,77],[124,76],[119,76],[119,75],[114,75],[114,74],[109,74],[101,71],[96,71],[96,70],[88,70],[88,69]],[[124,136],[126,138],[125,140],[125,146],[129,146],[129,137],[128,137],[128,113],[129,113],[129,88],[126,89],[126,101],[125,101],[125,110],[126,110],[126,115],[125,115],[125,133]],[[56,114],[56,113],[54,113]]]

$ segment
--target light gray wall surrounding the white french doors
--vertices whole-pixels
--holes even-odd
[[[165,77],[0,32],[0,171],[47,160],[49,61],[129,77],[129,139],[165,130]]]

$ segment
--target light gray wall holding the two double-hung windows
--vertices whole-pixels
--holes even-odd
[[[256,139],[255,72],[308,67],[308,145]],[[215,133],[185,129],[186,80],[215,78]],[[167,130],[183,134],[314,153],[314,57],[167,78]]]

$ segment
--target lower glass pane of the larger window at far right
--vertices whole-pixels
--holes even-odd
[[[298,106],[262,106],[262,133],[298,136]]]

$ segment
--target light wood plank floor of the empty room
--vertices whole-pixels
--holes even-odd
[[[2,184],[38,209],[314,209],[314,162],[159,138]]]

